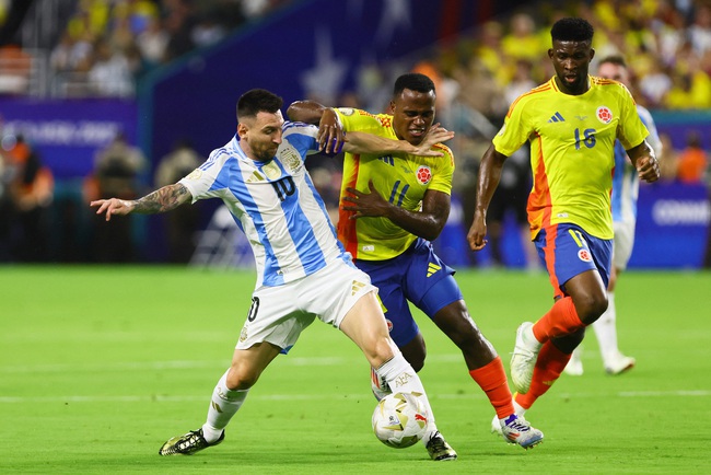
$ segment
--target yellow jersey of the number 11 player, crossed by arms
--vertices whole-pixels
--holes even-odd
[[[373,115],[354,108],[337,108],[343,130],[370,132],[398,140],[393,129],[393,116]],[[454,155],[444,144],[436,144],[444,157],[413,154],[353,154],[346,153],[340,198],[346,188],[370,193],[369,182],[392,205],[418,211],[428,189],[452,193]],[[341,202],[342,205],[342,202]],[[338,211],[338,239],[354,259],[385,260],[403,254],[417,236],[387,218],[349,219],[353,211]]]

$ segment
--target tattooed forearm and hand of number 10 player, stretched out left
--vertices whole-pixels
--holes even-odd
[[[180,205],[184,205],[193,198],[190,192],[179,184],[167,185],[145,195],[139,199],[97,199],[90,206],[98,207],[96,215],[106,213],[106,221],[110,221],[113,215],[129,215],[138,212],[141,215],[155,215],[159,212],[171,211]]]

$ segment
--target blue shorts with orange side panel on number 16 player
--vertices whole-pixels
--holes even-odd
[[[587,234],[576,224],[552,224],[534,240],[548,269],[553,298],[566,296],[566,282],[586,270],[597,270],[607,288],[613,263],[613,240]]]

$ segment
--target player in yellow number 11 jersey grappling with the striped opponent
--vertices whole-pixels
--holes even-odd
[[[360,131],[419,144],[432,128],[434,103],[430,78],[407,73],[395,81],[391,114],[326,108],[311,101],[292,104],[288,114],[292,119],[319,120],[325,151],[334,140],[341,140],[341,130],[346,140],[349,132]],[[378,288],[391,336],[410,364],[416,370],[422,368],[426,347],[408,301],[462,350],[469,374],[497,412],[505,440],[528,449],[544,436],[516,416],[501,358],[469,316],[454,270],[430,244],[450,215],[454,172],[452,151],[443,144],[434,147],[443,157],[346,153],[338,238]],[[383,384],[374,371],[373,383],[378,398],[395,390]],[[442,448],[441,456],[456,457],[447,447]]]

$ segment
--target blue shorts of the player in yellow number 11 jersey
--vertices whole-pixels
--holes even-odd
[[[377,287],[391,337],[398,347],[410,343],[420,332],[408,301],[432,318],[442,308],[463,299],[454,269],[422,239],[392,259],[359,259],[356,265]]]

